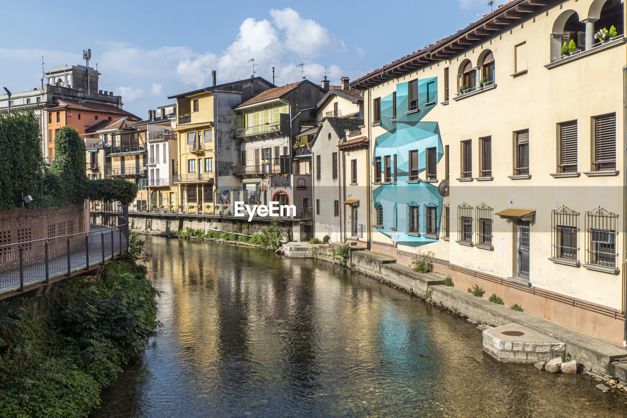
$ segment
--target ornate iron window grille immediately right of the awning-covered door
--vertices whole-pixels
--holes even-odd
[[[577,261],[577,233],[579,232],[579,212],[566,206],[552,212],[551,245],[552,256],[556,259]]]

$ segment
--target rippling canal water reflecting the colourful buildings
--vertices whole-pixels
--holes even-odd
[[[475,325],[326,262],[147,238],[162,327],[93,417],[624,417],[584,375],[506,365]]]

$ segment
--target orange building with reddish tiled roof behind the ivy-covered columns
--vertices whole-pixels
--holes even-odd
[[[85,134],[85,129],[99,121],[117,119],[121,117],[129,117],[132,121],[140,121],[141,119],[134,114],[122,110],[117,106],[96,103],[81,102],[72,99],[59,99],[58,105],[45,110],[48,119],[48,164],[52,163],[55,158],[55,137],[56,132],[64,126],[71,126],[78,130],[83,138],[95,137],[97,134]]]

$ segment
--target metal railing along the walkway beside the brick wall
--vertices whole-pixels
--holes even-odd
[[[90,271],[127,249],[128,224],[93,227],[90,232],[0,245],[0,298]]]

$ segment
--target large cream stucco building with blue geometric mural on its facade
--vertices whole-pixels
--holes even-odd
[[[623,341],[624,19],[616,0],[515,0],[352,83],[371,248],[432,251],[455,286]]]

